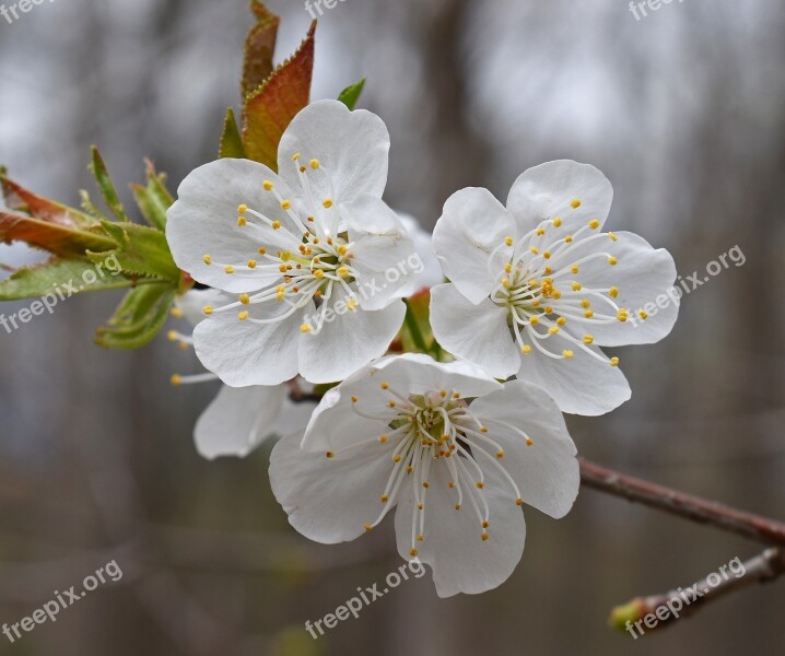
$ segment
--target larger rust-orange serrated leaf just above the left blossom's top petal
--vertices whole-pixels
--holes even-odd
[[[281,65],[243,107],[243,144],[250,160],[278,169],[278,144],[296,114],[308,104],[314,72],[314,34],[311,25],[300,49]]]

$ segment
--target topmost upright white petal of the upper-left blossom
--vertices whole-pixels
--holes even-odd
[[[300,189],[297,167],[308,165],[306,175],[317,203],[331,198],[341,204],[363,194],[382,198],[389,147],[387,126],[375,114],[350,112],[337,101],[319,101],[289,124],[278,148],[278,169],[283,179]],[[301,160],[294,162],[297,153]],[[317,160],[319,168],[312,169],[311,160]]]

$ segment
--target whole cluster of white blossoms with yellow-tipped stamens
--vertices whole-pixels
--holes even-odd
[[[225,384],[197,425],[206,457],[284,435],[270,479],[300,532],[352,540],[394,512],[400,554],[431,566],[441,596],[481,593],[520,560],[520,506],[570,511],[579,476],[562,412],[630,398],[600,347],[670,331],[675,305],[643,307],[676,268],[641,237],[604,230],[611,185],[571,161],[524,173],[506,207],[458,191],[429,253],[382,200],[388,150],[382,119],[323,101],[285,130],[277,172],[225,159],[185,179],[166,234],[177,266],[209,289],[180,300],[197,325],[172,339],[211,373],[176,382]],[[401,270],[417,254],[424,266]],[[403,300],[423,286],[424,352],[400,353],[405,319],[422,331]],[[281,423],[293,380],[329,385],[313,413]]]

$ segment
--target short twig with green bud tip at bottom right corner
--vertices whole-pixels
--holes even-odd
[[[770,583],[785,574],[785,551],[766,549],[763,553],[741,563],[734,559],[702,581],[665,595],[637,597],[611,611],[608,623],[619,630],[629,631],[637,639],[646,631],[668,626],[673,620],[692,614],[728,593],[749,585]]]

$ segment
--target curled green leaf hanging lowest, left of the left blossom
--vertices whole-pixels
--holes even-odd
[[[107,349],[139,349],[149,343],[166,323],[176,290],[147,284],[126,294],[107,326],[96,330],[95,343]]]

